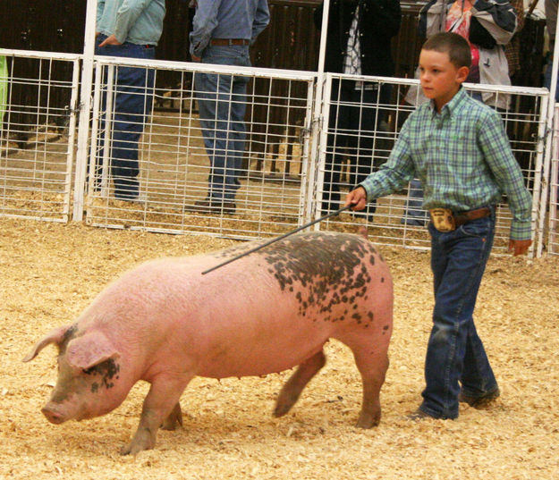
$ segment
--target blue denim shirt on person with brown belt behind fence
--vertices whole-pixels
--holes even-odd
[[[198,0],[191,55],[202,56],[212,38],[243,38],[252,44],[269,21],[267,0]]]

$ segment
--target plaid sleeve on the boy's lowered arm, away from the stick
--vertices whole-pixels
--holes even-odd
[[[530,240],[532,198],[524,186],[521,167],[512,155],[499,114],[492,111],[480,125],[479,139],[495,182],[508,198],[512,213],[511,239]]]

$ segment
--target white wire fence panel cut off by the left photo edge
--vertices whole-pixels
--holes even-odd
[[[67,222],[80,57],[2,54],[0,216]]]

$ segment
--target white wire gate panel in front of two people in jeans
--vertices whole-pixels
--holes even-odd
[[[156,76],[165,72],[172,80],[169,87],[156,90],[153,113],[142,125],[140,201],[134,202],[115,198],[111,178],[114,78],[123,66],[153,69]],[[196,72],[216,74],[218,81],[229,82],[233,75],[249,80],[244,99],[246,149],[234,215],[191,211],[207,196],[210,173],[193,81]],[[303,223],[313,73],[96,57],[95,79],[91,161],[84,185],[87,223],[237,239],[275,235]],[[233,106],[239,99],[230,101]]]

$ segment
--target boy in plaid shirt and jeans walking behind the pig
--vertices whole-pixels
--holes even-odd
[[[448,32],[428,38],[419,56],[419,80],[430,102],[404,123],[387,163],[345,201],[361,210],[414,176],[425,192],[435,308],[426,388],[412,419],[456,418],[459,400],[480,407],[499,396],[472,314],[503,192],[512,211],[509,251],[522,255],[531,244],[529,192],[499,115],[462,88],[469,70],[464,38]]]

